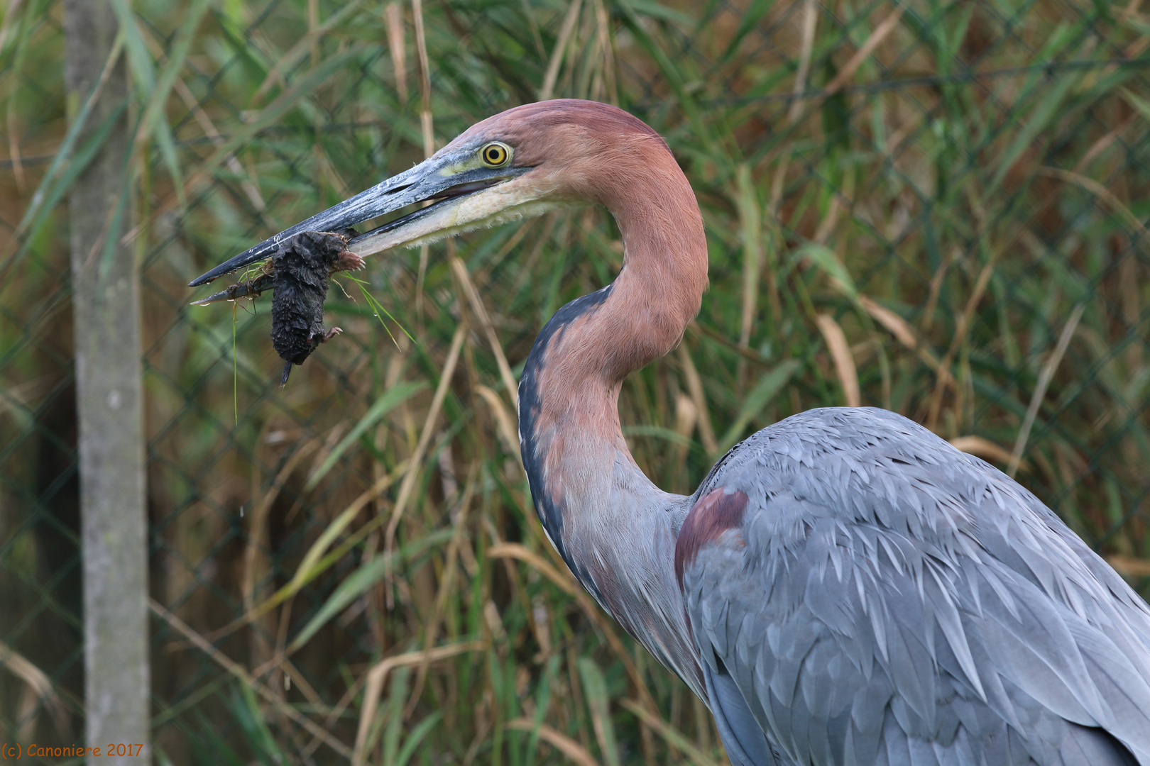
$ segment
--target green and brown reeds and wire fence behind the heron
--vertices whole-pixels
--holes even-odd
[[[688,493],[793,412],[902,412],[1150,594],[1150,10],[1140,0],[115,0],[140,125],[161,763],[714,764],[573,583],[518,457],[535,333],[620,268],[603,210],[370,258],[281,392],[267,297],[186,281],[551,96],[662,133],[711,288],[631,376]],[[83,732],[56,0],[0,24],[0,738]],[[144,117],[147,116],[145,119]],[[0,149],[3,152],[3,149]],[[394,529],[394,547],[388,531]]]

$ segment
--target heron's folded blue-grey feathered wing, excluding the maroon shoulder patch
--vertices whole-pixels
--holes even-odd
[[[1150,609],[1004,474],[899,416],[815,410],[715,487],[750,503],[684,571],[693,637],[782,757],[1150,765]]]

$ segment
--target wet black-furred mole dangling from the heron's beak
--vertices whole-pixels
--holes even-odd
[[[309,231],[284,240],[271,255],[271,345],[285,362],[281,387],[288,382],[291,365],[304,364],[327,335],[328,274],[346,247],[347,240],[339,234]]]

